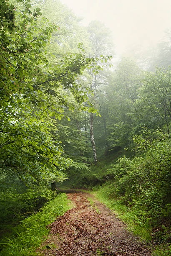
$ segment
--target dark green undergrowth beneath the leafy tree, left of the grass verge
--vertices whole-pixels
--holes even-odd
[[[18,186],[17,186],[18,185]],[[20,220],[37,212],[45,203],[52,200],[56,193],[43,185],[28,188],[21,184],[9,183],[1,187],[0,199],[0,235],[17,225]]]

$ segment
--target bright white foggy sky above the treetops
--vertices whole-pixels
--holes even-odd
[[[61,0],[86,26],[100,20],[113,33],[118,54],[134,45],[148,47],[171,28],[171,0]]]

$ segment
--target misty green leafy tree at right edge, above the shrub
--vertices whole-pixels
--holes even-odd
[[[171,69],[157,68],[146,72],[143,86],[139,88],[136,102],[141,123],[150,129],[162,129],[170,133],[171,123]]]

